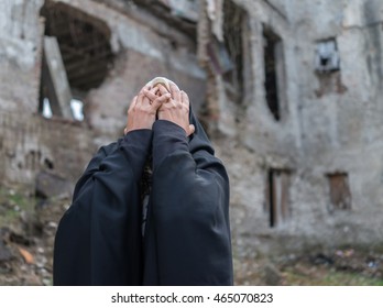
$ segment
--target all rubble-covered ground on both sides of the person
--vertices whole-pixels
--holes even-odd
[[[0,187],[0,285],[52,285],[53,243],[67,197],[41,199]],[[383,285],[383,250],[234,258],[236,285]]]

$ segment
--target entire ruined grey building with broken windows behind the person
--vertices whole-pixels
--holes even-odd
[[[237,258],[383,244],[379,0],[6,0],[0,67],[3,184],[70,189],[164,75],[228,167]]]

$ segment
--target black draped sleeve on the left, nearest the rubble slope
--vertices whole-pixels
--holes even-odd
[[[140,285],[139,183],[151,130],[101,147],[78,180],[54,250],[54,285]]]

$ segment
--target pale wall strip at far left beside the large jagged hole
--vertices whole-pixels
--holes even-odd
[[[0,3],[0,108],[37,110],[43,0]]]

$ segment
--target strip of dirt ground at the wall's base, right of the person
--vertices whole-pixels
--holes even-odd
[[[241,261],[238,285],[383,286],[383,253],[352,248]]]

